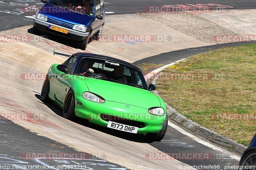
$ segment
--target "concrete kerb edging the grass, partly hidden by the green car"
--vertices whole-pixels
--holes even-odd
[[[182,60],[185,60],[185,59],[182,59]],[[152,71],[151,73],[154,73],[154,74],[160,73],[165,68],[167,68],[171,65],[174,65],[182,60],[178,60],[174,63],[160,67],[160,68]],[[146,74],[145,77],[148,77],[148,74]],[[151,83],[156,84],[156,80],[157,80],[157,76],[153,79],[153,81],[151,81]],[[157,96],[160,96],[157,90],[153,91],[153,93]],[[215,131],[212,131],[212,130],[188,119],[188,117],[184,116],[183,114],[181,114],[180,112],[175,110],[172,106],[168,105],[168,103],[165,102],[165,105],[167,108],[168,117],[170,117],[173,121],[175,121],[179,125],[188,129],[189,131],[192,131],[193,133],[196,133],[196,134],[200,135],[201,137],[204,137],[205,139],[207,139],[215,144],[223,146],[223,147],[227,148],[229,151],[236,152],[241,155],[247,149],[246,146],[244,146],[240,143],[237,143],[236,141],[234,141],[228,137],[219,135]]]

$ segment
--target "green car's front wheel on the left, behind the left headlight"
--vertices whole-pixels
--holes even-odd
[[[65,98],[63,104],[63,117],[69,120],[74,120],[76,118],[75,114],[75,95],[74,91],[70,89]]]

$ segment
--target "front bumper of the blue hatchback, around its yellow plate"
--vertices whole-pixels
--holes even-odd
[[[54,30],[49,29],[49,25],[53,25],[59,28],[63,28],[68,30],[68,34],[62,33],[62,32],[57,32]],[[76,31],[70,28],[66,28],[60,25],[56,25],[56,24],[52,24],[46,21],[42,21],[40,19],[35,18],[34,19],[34,26],[39,29],[42,30],[44,32],[48,32],[54,35],[58,35],[60,37],[64,37],[64,38],[68,38],[68,39],[73,39],[73,40],[78,40],[78,41],[82,41],[84,40],[86,37],[88,37],[89,32],[80,32],[80,31]]]

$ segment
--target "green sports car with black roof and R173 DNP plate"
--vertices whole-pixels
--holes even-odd
[[[56,53],[60,55],[61,54]],[[164,101],[151,93],[140,68],[123,60],[75,53],[63,64],[53,64],[41,92],[63,117],[81,117],[104,127],[146,134],[151,141],[164,138],[168,119]]]

